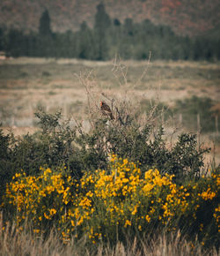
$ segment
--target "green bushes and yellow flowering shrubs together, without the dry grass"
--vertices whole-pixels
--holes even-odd
[[[30,232],[47,243],[55,230],[65,246],[85,239],[89,250],[129,248],[137,239],[143,253],[160,232],[191,241],[190,253],[213,245],[217,251],[219,170],[202,174],[208,150],[190,134],[167,148],[159,108],[143,117],[112,100],[110,120],[90,94],[88,102],[90,132],[43,109],[35,114],[39,132],[20,139],[1,132],[2,236],[13,220],[15,234]]]

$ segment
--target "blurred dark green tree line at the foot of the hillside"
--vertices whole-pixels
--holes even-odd
[[[25,34],[0,28],[0,50],[7,56],[74,57],[107,60],[115,55],[122,59],[217,60],[219,39],[204,36],[189,38],[174,34],[169,26],[156,26],[145,19],[110,19],[105,5],[99,4],[91,28],[84,21],[77,32],[55,33],[48,10],[40,17],[38,32]]]

